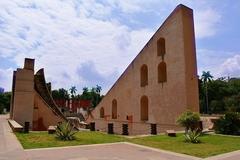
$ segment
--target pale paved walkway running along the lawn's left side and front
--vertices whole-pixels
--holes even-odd
[[[184,154],[125,142],[23,150],[11,132],[6,118],[6,115],[0,115],[0,160],[200,160]],[[240,151],[205,160],[240,160]]]

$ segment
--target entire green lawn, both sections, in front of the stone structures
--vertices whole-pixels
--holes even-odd
[[[78,132],[76,140],[73,141],[61,141],[54,134],[49,135],[47,132],[16,133],[16,136],[25,149],[125,141],[202,158],[240,150],[240,137],[221,135],[204,135],[200,137],[200,144],[184,142],[183,134],[177,134],[177,137],[157,135],[141,138],[124,138],[101,132]]]

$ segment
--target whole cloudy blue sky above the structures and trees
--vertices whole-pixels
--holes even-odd
[[[178,5],[194,10],[198,73],[240,76],[240,1],[0,1],[0,87],[25,57],[53,88],[100,85],[105,93]]]

